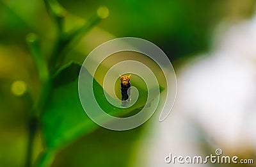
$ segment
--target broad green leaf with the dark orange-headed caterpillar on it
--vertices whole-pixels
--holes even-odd
[[[61,68],[54,77],[54,89],[40,116],[44,136],[45,156],[42,156],[44,159],[38,162],[49,163],[49,161],[54,159],[52,152],[58,152],[60,148],[65,147],[83,134],[88,134],[99,127],[99,125],[88,118],[81,106],[77,89],[77,70],[79,67],[80,65],[77,63],[70,63]],[[87,70],[86,72],[88,73],[86,75],[86,81],[92,81],[92,76]],[[132,107],[122,109],[109,104],[108,100],[104,97],[102,86],[95,79],[93,79],[93,90],[97,90],[94,91],[94,95],[95,99],[100,101],[100,107],[106,113],[115,116],[129,116],[130,114],[138,113],[141,107],[145,106],[145,97],[147,97],[147,91],[143,91],[141,97],[139,96],[138,102]],[[140,88],[139,91],[141,91]],[[47,154],[47,152],[51,154]]]

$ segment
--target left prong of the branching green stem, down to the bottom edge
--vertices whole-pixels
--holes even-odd
[[[45,102],[49,97],[49,93],[51,91],[51,79],[49,78],[47,63],[44,60],[42,52],[40,51],[38,37],[35,34],[30,33],[27,36],[26,40],[28,42],[30,52],[33,56],[35,67],[38,71],[39,79],[42,83],[42,90],[40,92],[38,102],[33,101],[31,95],[29,93],[27,94],[27,99],[29,99],[29,102],[31,102],[31,104],[28,104],[28,107],[33,106],[31,108],[31,112],[28,113],[28,143],[25,161],[25,166],[30,167],[32,166],[33,160],[33,145],[35,141],[35,135],[38,129],[38,118],[40,116],[40,113],[42,113],[45,106]]]

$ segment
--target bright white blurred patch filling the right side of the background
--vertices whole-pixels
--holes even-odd
[[[166,164],[164,157],[215,155],[216,148],[230,156],[254,152],[243,158],[256,161],[256,17],[215,36],[211,53],[177,72],[175,106],[164,122],[148,129],[134,166],[212,166]]]

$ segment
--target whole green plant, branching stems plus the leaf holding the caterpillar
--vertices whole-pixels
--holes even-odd
[[[79,42],[84,33],[92,28],[99,20],[100,16],[93,17],[86,24],[70,31],[65,31],[63,22],[65,21],[65,10],[58,4],[58,1],[45,0],[45,6],[52,20],[56,23],[56,40],[51,51],[49,62],[40,51],[38,36],[31,33],[27,37],[29,49],[37,68],[38,78],[42,84],[42,90],[38,102],[33,107],[33,115],[29,122],[40,122],[42,129],[43,151],[37,158],[36,166],[51,166],[54,157],[61,148],[74,142],[77,138],[88,134],[99,127],[84,113],[78,95],[78,76],[81,64],[70,61],[67,65],[63,60],[67,52]],[[93,76],[86,71],[86,81],[92,81]],[[140,88],[140,84],[134,85],[141,92],[141,95],[132,107],[121,109],[109,104],[104,96],[102,86],[93,79],[93,90],[95,99],[100,107],[109,115],[130,116],[138,113],[145,106],[147,90]],[[160,86],[160,90],[162,87]],[[86,88],[92,89],[92,88]],[[89,95],[88,95],[89,96]],[[91,97],[88,97],[91,98]],[[29,123],[30,125],[31,123]],[[37,123],[36,123],[37,125]],[[31,129],[31,127],[29,127]],[[30,131],[31,132],[31,131]],[[29,134],[28,158],[26,166],[31,165],[31,143],[35,137],[35,131]],[[131,142],[130,142],[131,143]],[[128,154],[128,152],[126,153]]]

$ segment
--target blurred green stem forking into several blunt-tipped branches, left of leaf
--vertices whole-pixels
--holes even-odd
[[[27,157],[26,157],[26,167],[31,167],[31,161],[33,157],[33,143],[35,140],[36,131],[38,129],[38,120],[42,115],[42,111],[44,111],[45,104],[47,104],[47,100],[51,95],[53,77],[56,71],[58,70],[58,66],[65,59],[65,55],[67,55],[70,47],[81,40],[84,33],[89,31],[95,24],[97,24],[102,17],[99,15],[97,17],[93,17],[87,24],[81,26],[81,28],[76,29],[72,32],[65,32],[63,29],[63,21],[65,19],[65,10],[56,0],[44,0],[45,6],[47,8],[47,12],[49,13],[52,20],[56,22],[56,26],[58,28],[56,42],[54,47],[52,48],[51,58],[49,63],[46,63],[42,52],[40,52],[38,39],[35,35],[30,35],[28,38],[28,42],[30,45],[31,53],[34,56],[36,66],[38,68],[38,74],[40,76],[40,81],[42,82],[42,90],[40,92],[40,97],[38,102],[33,107],[33,112],[31,112],[31,117],[28,122],[28,148],[27,148]],[[41,157],[38,157],[38,162],[40,166],[49,166],[53,159],[55,152],[44,150],[42,152]]]

